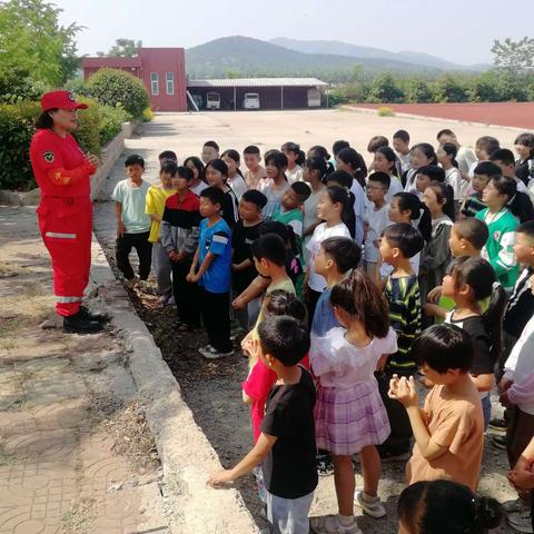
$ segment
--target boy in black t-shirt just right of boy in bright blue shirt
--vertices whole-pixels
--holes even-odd
[[[259,237],[261,210],[267,197],[256,189],[245,191],[239,201],[240,220],[231,234],[231,285],[234,298],[238,297],[258,276],[254,267],[253,243]],[[248,332],[254,326],[259,312],[259,298],[247,303],[236,316],[240,327]]]

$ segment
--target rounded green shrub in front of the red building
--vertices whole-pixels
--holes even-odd
[[[142,118],[150,106],[142,81],[118,69],[100,69],[87,80],[88,95],[100,103],[121,105],[135,119]]]

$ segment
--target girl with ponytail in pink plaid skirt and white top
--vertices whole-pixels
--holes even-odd
[[[389,422],[374,373],[384,355],[397,350],[397,336],[382,291],[363,270],[334,286],[330,303],[342,327],[314,340],[310,363],[318,377],[316,444],[332,454],[339,513],[312,520],[312,526],[357,534],[353,454],[359,453],[364,476],[356,505],[374,517],[385,515],[377,496],[382,466],[375,445],[389,435]]]

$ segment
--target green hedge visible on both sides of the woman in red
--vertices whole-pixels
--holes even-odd
[[[101,106],[89,98],[78,115],[75,131],[80,147],[100,156],[101,147],[117,136],[131,117],[121,107]],[[0,189],[29,190],[36,187],[30,164],[30,141],[41,109],[38,102],[0,103]]]

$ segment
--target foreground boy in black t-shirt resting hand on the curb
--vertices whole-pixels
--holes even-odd
[[[241,462],[211,475],[209,484],[233,482],[263,462],[273,532],[307,534],[317,486],[315,387],[309,373],[297,364],[309,350],[309,334],[301,322],[281,316],[261,322],[258,335],[254,349],[278,376],[267,398],[261,434]]]

